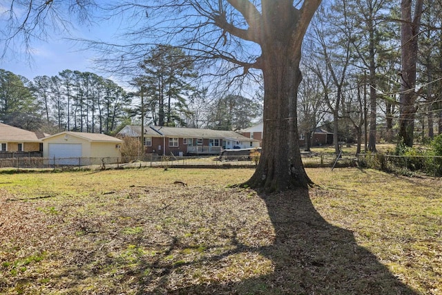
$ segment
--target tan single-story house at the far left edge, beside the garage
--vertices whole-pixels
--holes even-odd
[[[0,123],[0,158],[42,156],[41,138],[47,134]]]

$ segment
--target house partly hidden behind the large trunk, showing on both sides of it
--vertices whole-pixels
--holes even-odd
[[[262,131],[264,130],[264,123],[256,124],[247,129],[239,131],[244,137],[253,138],[254,140],[260,140],[260,146],[262,144]],[[311,139],[312,146],[323,146],[327,144],[333,144],[333,133],[325,130],[323,127],[317,127]],[[305,145],[305,133],[301,132],[299,135],[299,145]]]

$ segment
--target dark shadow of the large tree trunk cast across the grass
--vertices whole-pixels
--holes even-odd
[[[358,246],[351,231],[325,221],[309,191],[261,198],[276,232],[273,245],[253,250],[238,245],[233,253],[256,251],[273,262],[273,272],[239,282],[191,285],[167,294],[418,294]]]

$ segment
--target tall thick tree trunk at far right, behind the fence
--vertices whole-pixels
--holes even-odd
[[[401,1],[401,95],[399,137],[407,146],[413,146],[414,119],[416,117],[416,63],[418,55],[418,33],[421,23],[423,0],[416,0],[412,17],[412,0]]]

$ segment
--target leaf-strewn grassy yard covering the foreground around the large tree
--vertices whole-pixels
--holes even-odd
[[[441,294],[442,180],[307,169],[0,174],[0,294]]]

